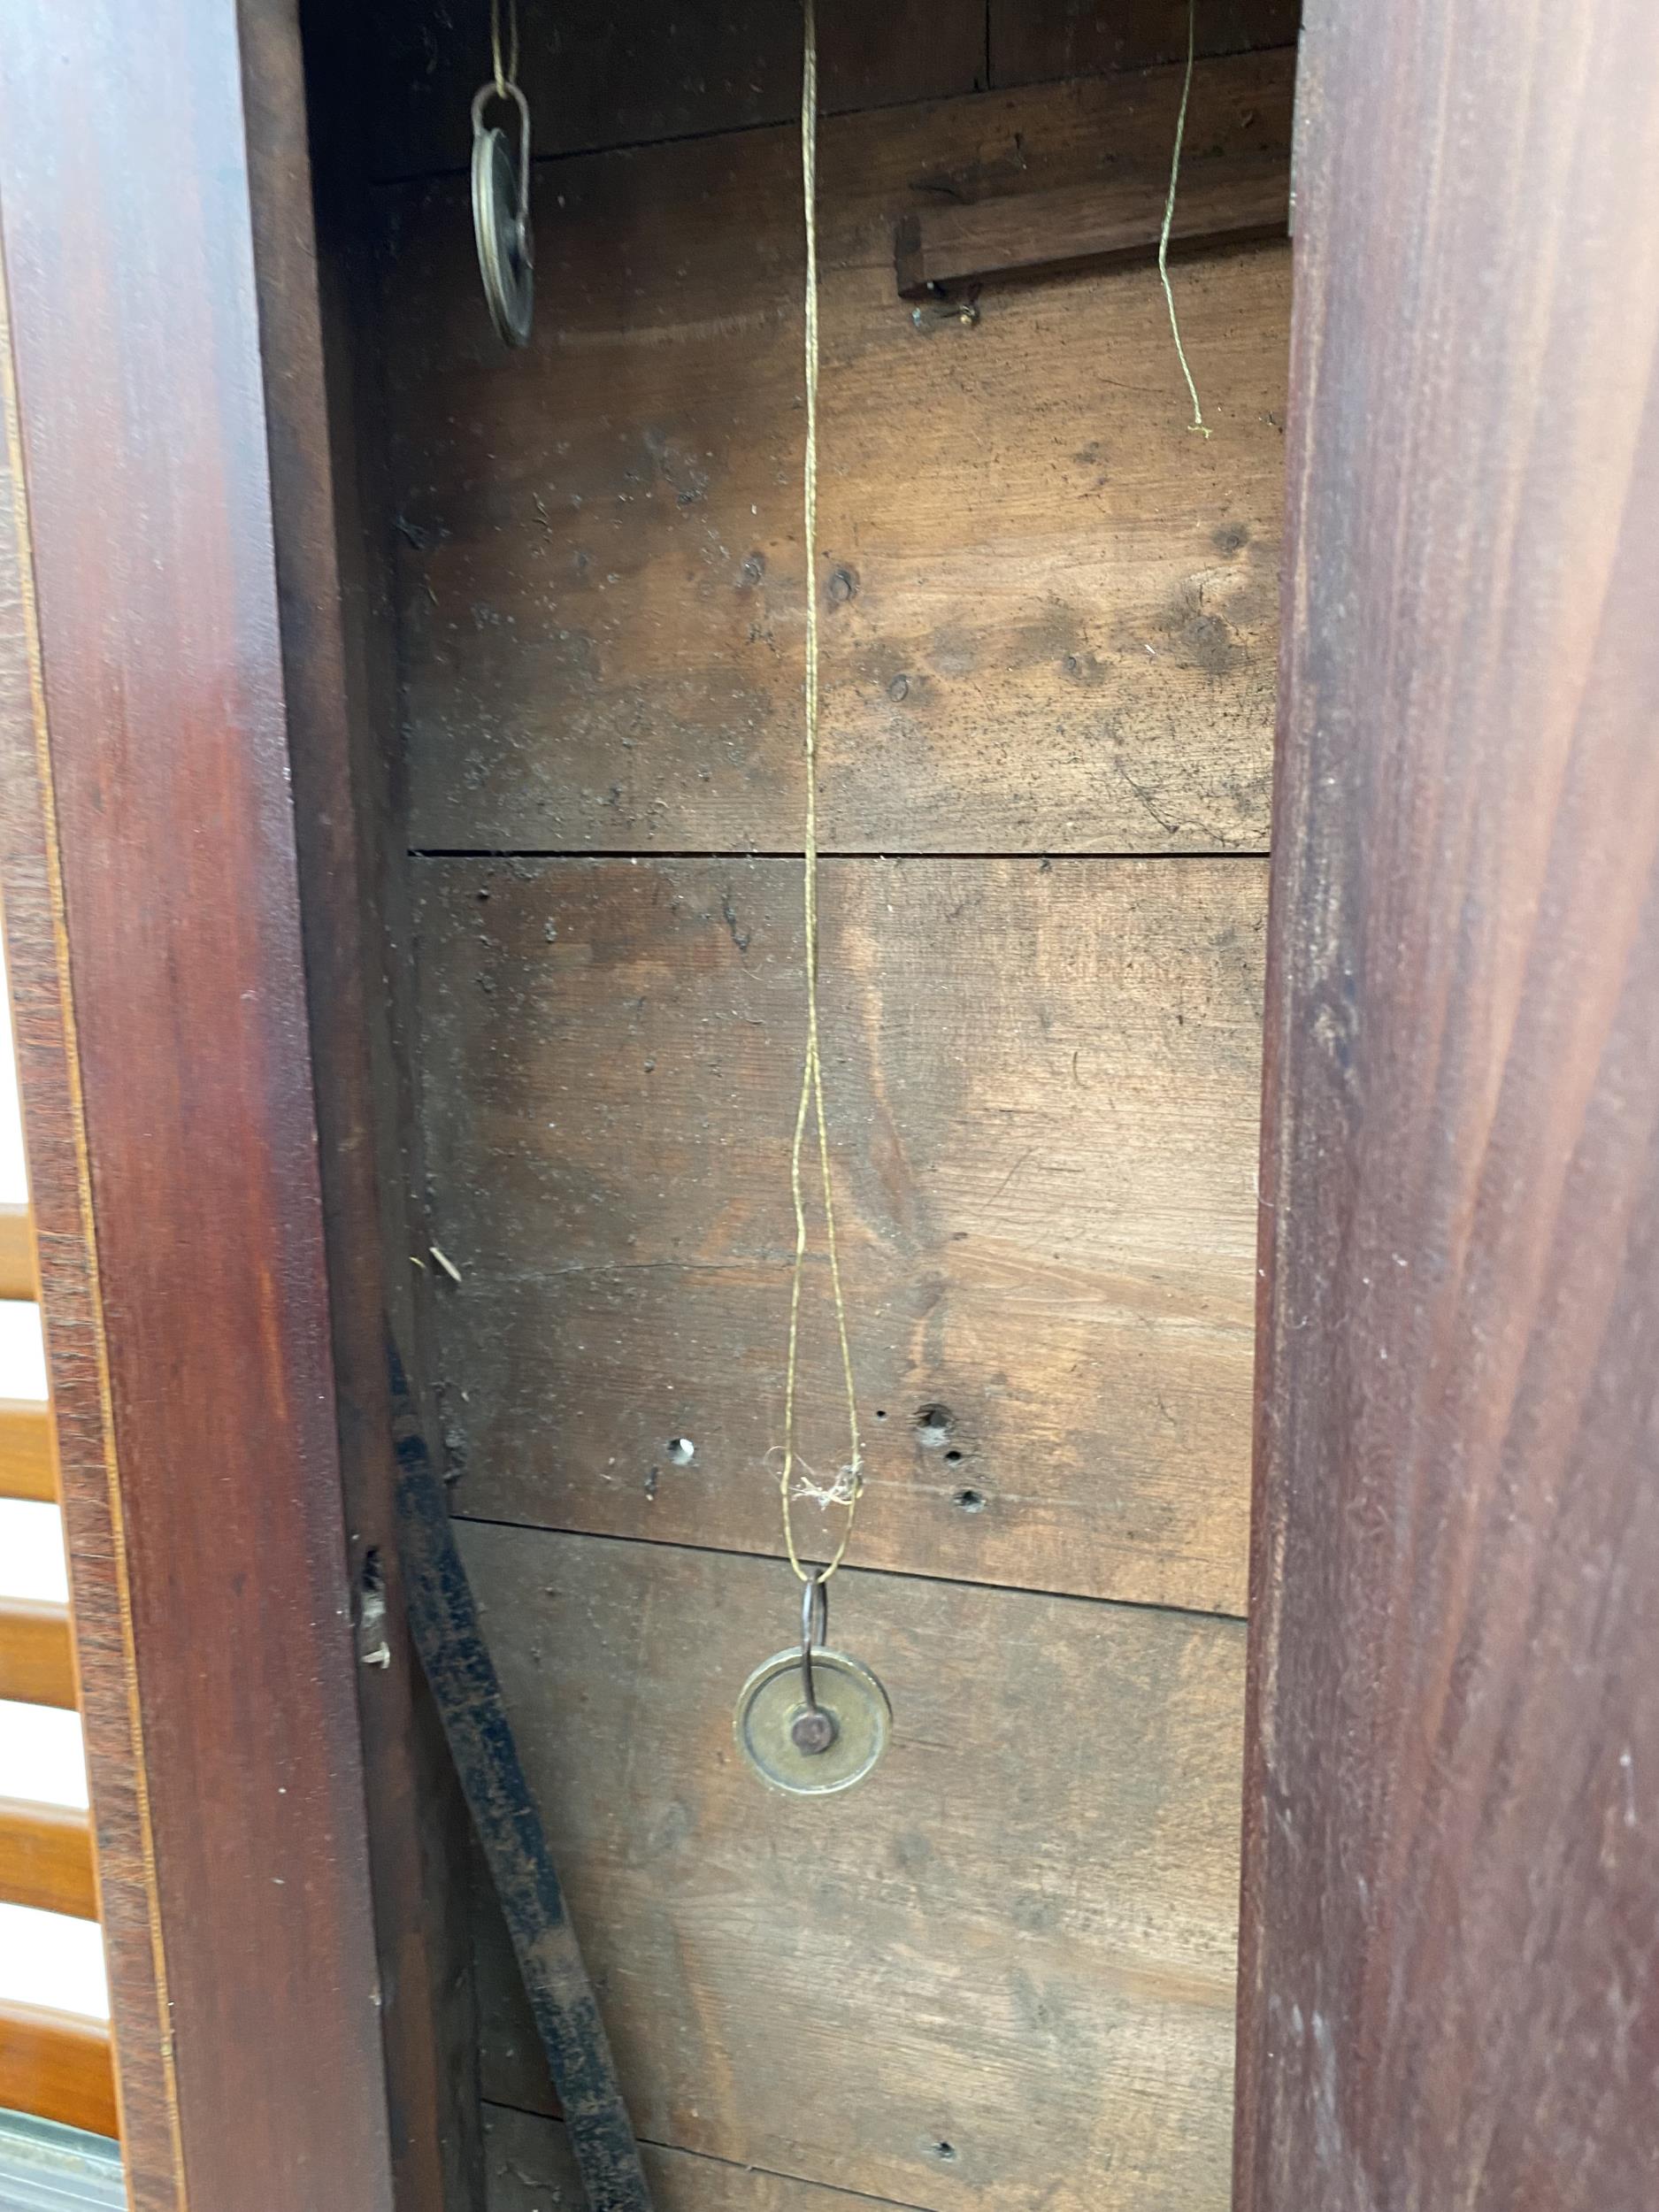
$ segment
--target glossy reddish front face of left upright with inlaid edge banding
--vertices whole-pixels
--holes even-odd
[[[9,816],[15,891],[11,852],[0,874],[60,1442],[77,1495],[104,1489],[71,1573],[108,1639],[95,1820],[108,1778],[133,1851],[135,2205],[314,2212],[323,2188],[387,2212],[246,139],[261,7],[288,0],[7,11],[4,701],[33,818]]]

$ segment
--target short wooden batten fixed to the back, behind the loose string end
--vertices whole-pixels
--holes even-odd
[[[1088,261],[1157,252],[1168,184],[1168,168],[1164,175],[1144,170],[1110,184],[907,215],[894,239],[898,292],[922,299],[978,281],[1046,276]],[[1283,232],[1287,217],[1287,153],[1194,161],[1175,206],[1170,246],[1237,246]]]

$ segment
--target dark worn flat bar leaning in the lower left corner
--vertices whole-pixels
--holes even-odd
[[[495,1661],[478,1626],[478,1606],[449,1524],[449,1502],[392,1343],[387,1369],[409,1628],[513,1938],[588,2212],[650,2212],[650,2190],[599,2006],[564,1911],[560,1876],[518,1756]]]

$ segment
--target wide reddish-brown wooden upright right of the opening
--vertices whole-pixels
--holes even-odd
[[[1237,2201],[1601,2212],[1659,2192],[1659,13],[1321,7],[1305,69]]]

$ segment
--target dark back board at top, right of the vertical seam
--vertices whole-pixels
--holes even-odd
[[[991,84],[1148,69],[1186,53],[1186,0],[989,0]],[[1301,0],[1197,0],[1197,51],[1290,46]]]

